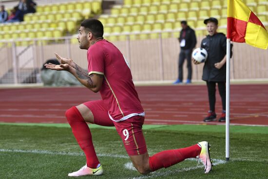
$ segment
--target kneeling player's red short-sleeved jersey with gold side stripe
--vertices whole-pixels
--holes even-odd
[[[100,95],[110,119],[121,121],[144,116],[130,68],[122,53],[107,40],[99,40],[87,52],[88,72],[104,75]]]

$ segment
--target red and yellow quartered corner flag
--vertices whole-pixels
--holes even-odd
[[[267,49],[268,32],[242,0],[228,0],[227,39]]]

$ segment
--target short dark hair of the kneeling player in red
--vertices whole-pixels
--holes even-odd
[[[81,27],[85,27],[88,32],[91,32],[95,38],[103,36],[103,25],[101,21],[96,19],[87,19],[81,22]]]

